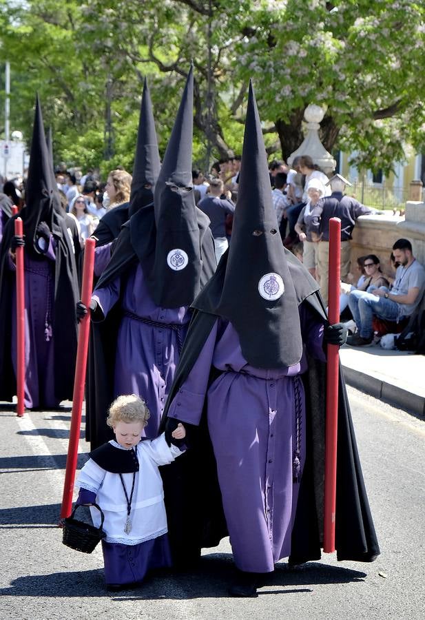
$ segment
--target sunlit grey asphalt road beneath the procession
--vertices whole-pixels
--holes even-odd
[[[56,526],[70,409],[19,419],[0,404],[0,619],[423,619],[425,422],[349,395],[382,555],[372,564],[323,555],[298,571],[282,562],[258,599],[227,597],[228,539],[207,550],[196,573],[106,592],[100,546],[73,551]]]

